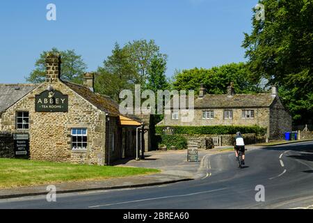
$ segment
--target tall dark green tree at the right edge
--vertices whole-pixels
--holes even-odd
[[[294,123],[312,123],[313,0],[262,0],[265,20],[252,18],[243,47],[250,77],[280,87]]]

